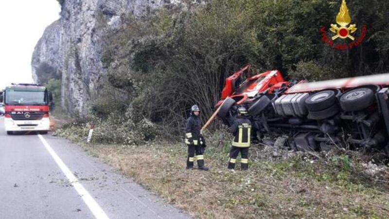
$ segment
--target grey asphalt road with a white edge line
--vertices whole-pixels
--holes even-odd
[[[0,118],[0,218],[190,218],[69,141],[7,135]]]

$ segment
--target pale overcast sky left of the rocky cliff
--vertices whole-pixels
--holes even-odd
[[[32,83],[31,57],[47,26],[59,18],[57,0],[4,0],[0,4],[0,90]]]

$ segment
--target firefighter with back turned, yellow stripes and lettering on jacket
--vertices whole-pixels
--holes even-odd
[[[244,107],[238,108],[238,117],[230,127],[230,132],[234,135],[230,150],[229,169],[235,168],[236,157],[241,154],[241,169],[248,169],[248,148],[250,147],[251,122],[246,117],[247,110]]]

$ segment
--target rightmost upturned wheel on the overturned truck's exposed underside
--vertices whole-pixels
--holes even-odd
[[[350,112],[368,108],[374,99],[374,92],[370,88],[356,88],[343,93],[339,102],[342,110]]]

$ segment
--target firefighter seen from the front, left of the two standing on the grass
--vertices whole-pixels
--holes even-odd
[[[191,108],[191,115],[186,120],[185,144],[188,145],[186,168],[193,169],[193,165],[196,160],[198,169],[208,170],[209,168],[204,166],[204,148],[206,145],[205,140],[200,133],[199,114],[200,108],[198,108],[197,105],[193,105]]]

